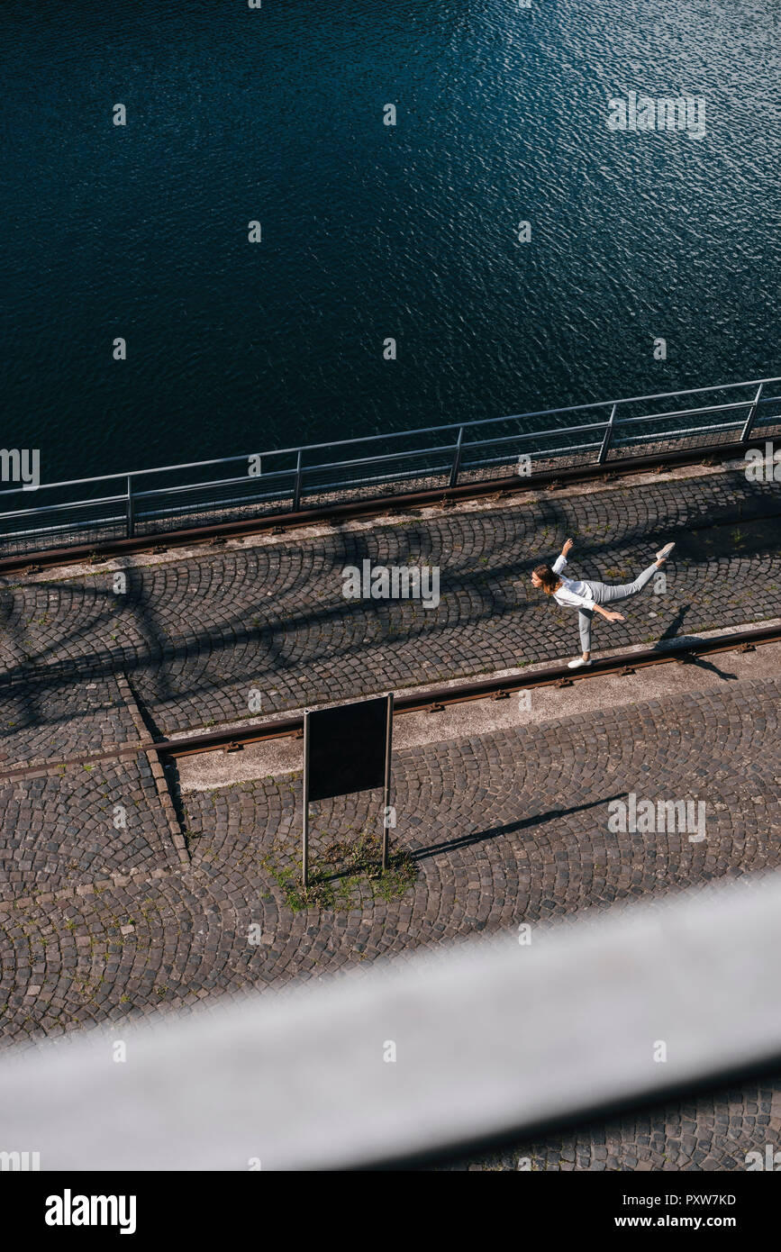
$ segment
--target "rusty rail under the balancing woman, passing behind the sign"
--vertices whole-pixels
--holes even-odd
[[[716,652],[753,651],[763,644],[781,642],[781,625],[756,626],[741,631],[725,632],[710,639],[690,639],[672,642],[663,650],[655,647],[641,651],[622,652],[596,660],[587,670],[569,670],[566,665],[549,665],[534,670],[533,674],[516,674],[504,677],[477,679],[457,682],[449,686],[431,687],[394,699],[394,714],[439,712],[447,705],[463,704],[472,700],[503,700],[516,691],[532,687],[569,687],[576,682],[588,682],[603,675],[626,676],[652,665],[690,665],[701,656]],[[88,756],[68,757],[45,765],[19,766],[0,770],[0,780],[15,781],[25,777],[39,777],[71,766],[94,765],[101,760],[116,760],[134,756],[138,752],[156,752],[158,756],[175,760],[181,756],[194,756],[199,752],[240,751],[245,744],[259,744],[272,739],[300,739],[303,736],[303,714],[289,717],[275,717],[250,726],[233,726],[227,730],[184,734],[173,739],[143,739],[135,742],[109,745],[99,752]]]

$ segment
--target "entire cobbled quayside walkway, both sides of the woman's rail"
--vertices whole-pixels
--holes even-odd
[[[255,772],[237,754],[230,776],[215,754],[215,781],[115,751],[252,717],[249,689],[268,715],[564,660],[577,615],[528,572],[567,536],[572,567],[608,581],[677,543],[667,590],[600,622],[597,650],[777,620],[780,493],[735,466],[677,471],[4,580],[3,1043],[781,868],[780,644],[640,671],[623,694],[607,676],[588,699],[532,692],[531,714],[419,715],[394,751],[392,873],[370,873],[378,795],[323,801],[308,896],[297,760]],[[364,558],[437,565],[439,605],[345,601],[340,571]],[[705,838],[611,829],[630,793],[703,803]],[[780,1102],[767,1078],[463,1167],[745,1168]]]

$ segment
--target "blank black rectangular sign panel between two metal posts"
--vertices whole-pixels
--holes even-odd
[[[309,799],[384,786],[388,697],[319,709],[309,721]]]

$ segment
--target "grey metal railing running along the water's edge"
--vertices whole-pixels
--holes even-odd
[[[751,379],[45,483],[35,488],[35,507],[28,507],[31,487],[14,487],[0,492],[0,556],[611,466],[675,449],[738,448],[781,434],[780,387],[781,378]],[[683,398],[696,399],[683,407]],[[595,419],[552,424],[578,417]]]

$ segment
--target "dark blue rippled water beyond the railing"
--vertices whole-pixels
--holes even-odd
[[[0,443],[51,481],[781,373],[780,35],[777,0],[5,0]],[[611,131],[630,90],[705,138]]]

